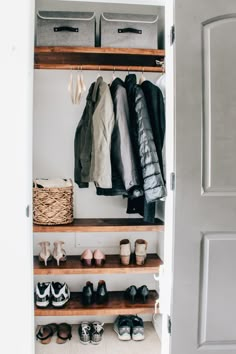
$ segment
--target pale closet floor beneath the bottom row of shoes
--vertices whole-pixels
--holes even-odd
[[[57,344],[55,337],[52,338],[51,343],[47,345],[36,341],[35,354],[160,354],[161,343],[153,328],[152,323],[145,322],[145,339],[141,342],[133,340],[129,342],[122,342],[118,339],[116,333],[113,331],[112,324],[104,326],[104,337],[102,343],[99,345],[83,345],[79,342],[77,334],[78,326],[74,325],[72,330],[72,339],[65,344]]]

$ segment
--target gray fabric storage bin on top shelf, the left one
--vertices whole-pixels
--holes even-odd
[[[36,46],[95,46],[95,13],[39,11]]]

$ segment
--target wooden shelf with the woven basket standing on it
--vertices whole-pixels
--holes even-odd
[[[146,224],[143,219],[74,219],[66,225],[35,225],[34,232],[135,232],[164,231],[164,224],[156,219],[155,224]]]

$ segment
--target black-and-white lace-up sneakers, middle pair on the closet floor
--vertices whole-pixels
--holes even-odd
[[[80,338],[80,343],[82,344],[99,344],[102,340],[102,335],[104,333],[103,328],[104,323],[99,321],[81,322],[79,324],[78,333]]]

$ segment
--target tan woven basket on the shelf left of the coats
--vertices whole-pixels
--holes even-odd
[[[71,187],[38,188],[34,183],[33,221],[39,225],[72,223],[73,185]]]

